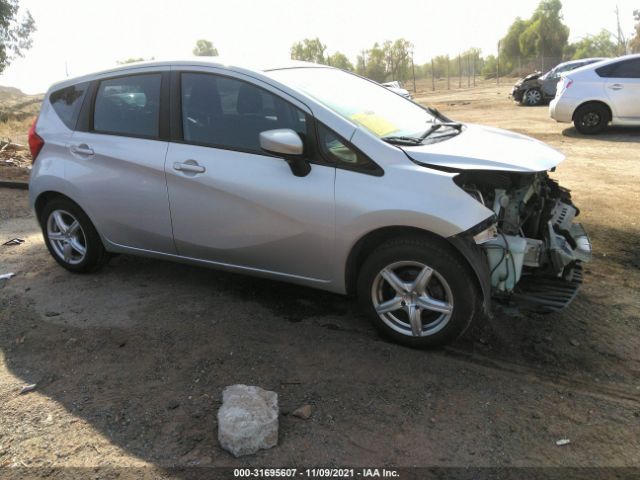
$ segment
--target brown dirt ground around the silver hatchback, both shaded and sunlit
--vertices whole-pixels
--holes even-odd
[[[567,310],[499,313],[415,351],[379,338],[355,301],[311,289],[127,256],[73,275],[27,193],[0,189],[0,243],[26,240],[0,246],[0,274],[16,273],[0,285],[0,467],[640,467],[640,129],[587,138],[513,104],[508,84],[429,87],[417,99],[456,120],[567,155],[554,176],[595,251]],[[278,393],[276,448],[219,447],[234,383]],[[310,419],[290,415],[303,404]]]

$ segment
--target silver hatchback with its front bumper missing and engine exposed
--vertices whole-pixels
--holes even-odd
[[[591,252],[547,175],[559,152],[323,65],[65,80],[29,144],[31,204],[64,268],[125,253],[357,294],[414,347],[454,340],[493,301],[564,307]]]

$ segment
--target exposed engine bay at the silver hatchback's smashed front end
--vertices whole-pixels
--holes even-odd
[[[494,296],[507,298],[522,293],[521,285],[535,285],[544,299],[558,298],[552,305],[568,303],[560,297],[572,293],[572,299],[575,292],[554,289],[581,279],[580,263],[591,259],[589,237],[574,223],[579,210],[569,190],[546,172],[468,170],[454,181],[495,213],[495,222],[475,237],[487,256]]]

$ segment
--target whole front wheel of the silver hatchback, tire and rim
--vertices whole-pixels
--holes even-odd
[[[376,248],[358,277],[358,297],[376,328],[414,348],[446,345],[475,316],[478,292],[464,260],[438,242],[399,238]]]

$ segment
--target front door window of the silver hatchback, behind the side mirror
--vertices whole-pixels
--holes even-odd
[[[290,128],[304,135],[306,116],[286,100],[242,80],[209,73],[181,74],[184,141],[261,152],[260,132]]]

